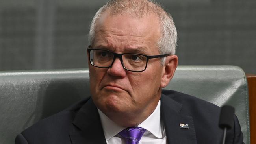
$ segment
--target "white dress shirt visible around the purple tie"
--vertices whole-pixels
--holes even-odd
[[[160,116],[160,100],[156,109],[138,127],[146,129],[139,144],[167,144],[165,128]],[[119,126],[98,109],[107,144],[126,144],[118,133],[126,127]]]

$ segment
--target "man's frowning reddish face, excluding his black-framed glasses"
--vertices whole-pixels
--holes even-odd
[[[91,47],[115,53],[159,55],[156,44],[160,35],[155,15],[134,18],[104,13],[98,20]],[[89,64],[89,70],[93,102],[109,118],[152,113],[160,99],[161,59],[150,59],[143,72],[124,70],[118,58],[110,68]]]

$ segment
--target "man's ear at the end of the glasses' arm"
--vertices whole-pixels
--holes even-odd
[[[163,65],[162,79],[160,87],[166,87],[170,80],[173,78],[174,72],[178,66],[178,56],[170,55],[166,57],[165,64]]]

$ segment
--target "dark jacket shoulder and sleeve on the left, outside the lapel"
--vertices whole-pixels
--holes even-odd
[[[72,122],[79,109],[87,102],[88,99],[82,100],[70,106],[69,108],[44,118],[39,122],[28,127],[22,135],[29,144],[56,144],[69,140],[69,130],[73,126]],[[16,137],[19,138],[20,135]]]

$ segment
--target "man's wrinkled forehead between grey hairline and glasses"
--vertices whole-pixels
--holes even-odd
[[[142,18],[129,14],[111,15],[106,12],[98,19],[94,47],[104,46],[113,50],[156,49],[160,38],[160,24],[154,14]]]

